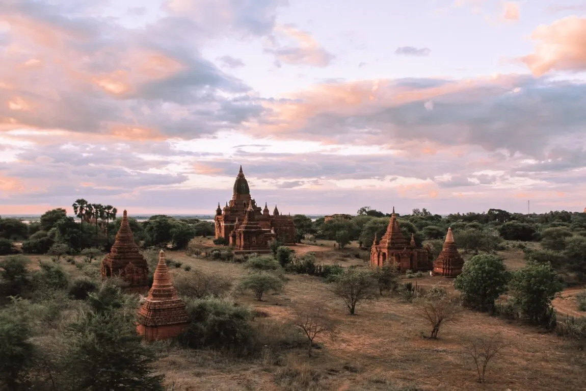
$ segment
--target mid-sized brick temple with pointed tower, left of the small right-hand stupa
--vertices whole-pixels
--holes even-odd
[[[375,236],[370,250],[371,267],[383,267],[394,261],[400,271],[431,270],[433,261],[431,251],[427,248],[418,249],[413,235],[411,235],[410,241],[403,236],[397,222],[395,208],[393,208],[387,232],[379,244],[376,244],[376,239]]]

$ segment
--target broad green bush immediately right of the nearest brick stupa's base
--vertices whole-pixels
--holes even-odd
[[[246,355],[253,342],[252,314],[247,307],[219,298],[187,301],[189,327],[178,337],[189,348],[214,348]]]

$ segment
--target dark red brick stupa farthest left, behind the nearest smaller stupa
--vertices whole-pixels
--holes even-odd
[[[134,243],[134,235],[128,224],[126,210],[122,215],[122,223],[116,234],[116,240],[102,261],[102,280],[108,277],[120,277],[128,284],[125,292],[146,293],[148,291],[148,264],[138,246]]]

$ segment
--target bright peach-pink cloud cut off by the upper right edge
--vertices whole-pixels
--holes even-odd
[[[582,72],[586,70],[586,18],[570,16],[551,25],[541,25],[531,38],[539,41],[535,53],[521,61],[534,76],[553,70]]]

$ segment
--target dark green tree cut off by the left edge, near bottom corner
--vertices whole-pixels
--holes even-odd
[[[27,375],[35,359],[30,321],[16,303],[0,310],[0,386],[9,391],[28,389]]]

